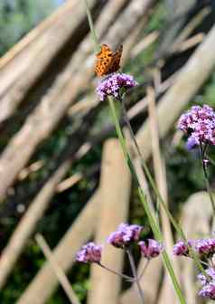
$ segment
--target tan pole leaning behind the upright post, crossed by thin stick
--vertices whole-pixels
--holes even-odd
[[[84,207],[75,222],[70,226],[68,232],[61,239],[61,242],[52,252],[54,259],[58,262],[62,271],[67,272],[70,269],[79,248],[87,242],[94,233],[97,225],[100,197],[98,190],[89,199],[89,203]],[[28,286],[27,290],[23,292],[17,304],[46,303],[57,284],[58,280],[51,270],[50,263],[47,261],[33,282]],[[38,297],[38,295],[40,295],[40,297]]]

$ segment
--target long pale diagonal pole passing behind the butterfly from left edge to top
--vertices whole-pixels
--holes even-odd
[[[126,39],[127,33],[147,13],[152,4],[152,0],[132,1],[118,16],[117,23],[109,29],[105,36],[107,42],[115,47],[118,42],[116,36],[120,36],[122,40]],[[128,23],[127,20],[131,22]],[[126,27],[121,28],[121,24],[126,24]],[[0,158],[0,200],[4,199],[8,187],[13,185],[16,176],[33,155],[39,143],[50,135],[67,109],[74,103],[77,94],[89,86],[89,80],[93,74],[92,62],[94,62],[94,56],[90,56],[82,70],[73,75],[70,72],[71,59],[66,70],[61,73],[51,90],[42,98],[41,103],[5,148]]]

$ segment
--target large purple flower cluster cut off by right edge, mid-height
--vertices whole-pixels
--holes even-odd
[[[188,149],[201,143],[215,145],[215,112],[208,105],[193,106],[182,114],[178,128],[189,136]]]

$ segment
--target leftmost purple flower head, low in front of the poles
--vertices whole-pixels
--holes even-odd
[[[96,245],[94,242],[89,242],[77,253],[76,260],[84,263],[100,262],[102,248],[102,246]]]

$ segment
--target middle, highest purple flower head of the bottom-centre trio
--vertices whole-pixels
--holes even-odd
[[[143,227],[137,224],[120,223],[117,231],[108,236],[108,243],[117,248],[124,248],[132,242],[139,241]]]

